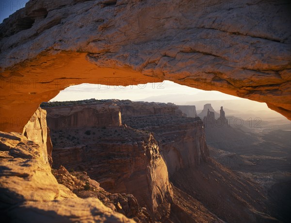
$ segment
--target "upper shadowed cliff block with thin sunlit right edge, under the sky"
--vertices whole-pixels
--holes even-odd
[[[46,107],[47,122],[54,130],[81,127],[121,126],[121,113],[112,103],[76,105],[67,107]]]

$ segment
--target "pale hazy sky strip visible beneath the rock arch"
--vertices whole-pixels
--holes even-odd
[[[266,117],[284,119],[281,114],[269,109],[266,103],[226,95],[218,91],[203,91],[168,80],[127,87],[83,83],[67,87],[50,101],[76,101],[91,98],[195,105],[197,112],[202,110],[205,104],[210,103],[217,112],[221,106],[224,106],[228,115],[240,113],[246,116],[252,114],[254,117],[259,115],[264,119]]]

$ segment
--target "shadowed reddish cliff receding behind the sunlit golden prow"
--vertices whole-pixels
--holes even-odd
[[[207,159],[209,151],[203,122],[199,118],[182,116],[182,112],[177,111],[178,106],[173,104],[129,103],[122,100],[115,103],[121,109],[124,124],[154,132],[170,175],[181,168],[197,166]],[[164,109],[150,112],[157,110],[157,107]],[[137,109],[139,112],[134,112]]]

